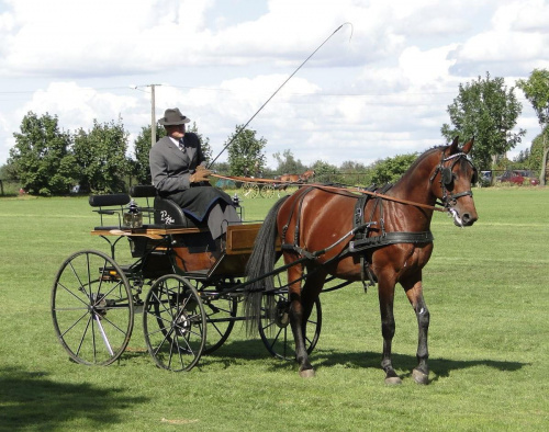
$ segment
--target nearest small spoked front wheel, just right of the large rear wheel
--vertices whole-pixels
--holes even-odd
[[[190,371],[206,340],[206,315],[194,287],[175,274],[159,277],[147,294],[143,331],[148,352],[159,367]]]

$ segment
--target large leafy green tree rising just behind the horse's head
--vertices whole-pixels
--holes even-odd
[[[515,88],[507,90],[503,78],[479,77],[477,81],[459,84],[459,94],[448,114],[452,126],[445,124],[440,132],[446,139],[456,135],[474,136],[472,158],[479,169],[490,169],[498,155],[520,143],[526,130],[513,133],[523,106],[515,96]]]

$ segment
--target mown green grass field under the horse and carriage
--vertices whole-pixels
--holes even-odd
[[[189,373],[154,366],[137,320],[108,367],[68,361],[49,311],[54,276],[80,249],[108,251],[87,198],[0,200],[0,430],[5,431],[541,431],[549,424],[549,187],[474,190],[479,221],[435,214],[424,271],[432,383],[414,384],[417,326],[396,291],[394,365],[379,364],[377,294],[361,284],[321,296],[317,375],[268,355],[237,323]],[[245,202],[261,219],[274,200]],[[350,217],[350,215],[349,215]]]

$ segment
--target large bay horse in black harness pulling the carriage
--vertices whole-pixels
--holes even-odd
[[[400,283],[418,325],[417,366],[412,376],[418,384],[428,384],[429,310],[423,295],[422,270],[433,252],[430,221],[435,209],[448,212],[459,227],[471,226],[478,219],[471,192],[477,169],[467,157],[473,140],[460,149],[456,137],[451,145],[425,151],[383,195],[371,193],[369,200],[360,201],[356,193],[310,185],[282,197],[269,211],[247,265],[250,286],[245,314],[251,321],[260,319],[261,297],[274,288],[272,277],[261,275],[273,274],[282,254],[288,268],[289,315],[300,376],[315,375],[305,349],[305,326],[326,277],[365,282],[367,274],[378,284],[385,383],[402,383],[391,360],[393,300]],[[357,219],[359,214],[363,215],[361,221]],[[282,246],[277,252],[278,239]]]

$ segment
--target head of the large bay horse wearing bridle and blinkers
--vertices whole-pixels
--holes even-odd
[[[473,225],[479,218],[471,191],[471,184],[477,182],[478,173],[467,157],[473,141],[474,138],[459,149],[456,137],[450,146],[442,149],[440,163],[430,177],[433,193],[459,227]]]

